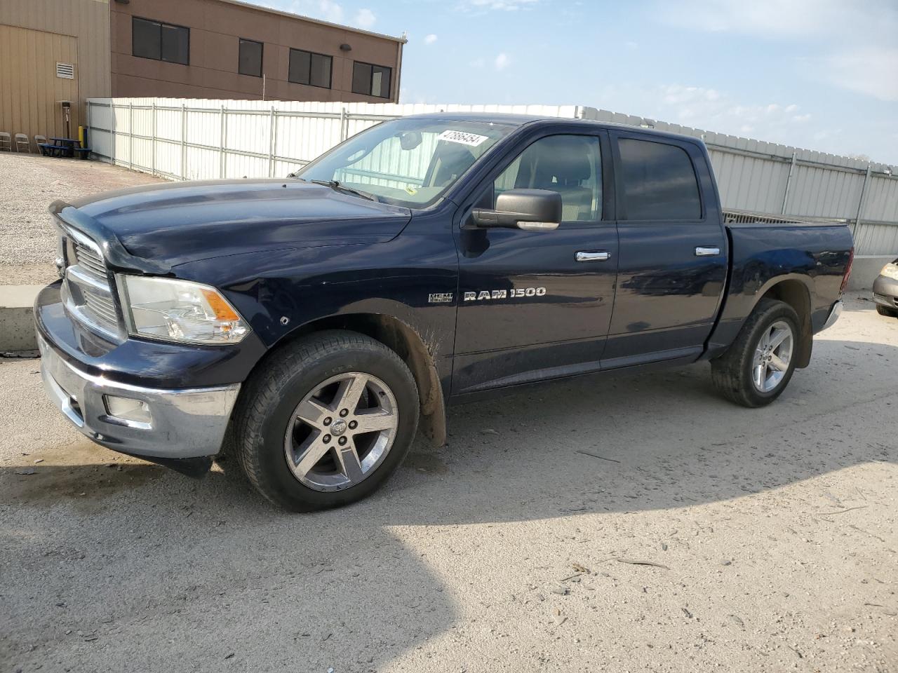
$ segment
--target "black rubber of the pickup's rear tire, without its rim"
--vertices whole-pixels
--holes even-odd
[[[765,330],[770,329],[770,326],[779,320],[788,322],[792,328],[793,353],[788,363],[788,369],[776,388],[769,392],[762,392],[755,387],[752,380],[753,357]],[[795,371],[797,361],[795,349],[801,334],[798,325],[798,314],[787,303],[762,299],[761,302],[758,302],[752,315],[745,321],[733,345],[725,354],[711,362],[711,380],[714,387],[725,398],[742,406],[765,406],[779,398]]]

